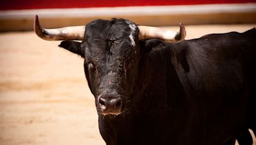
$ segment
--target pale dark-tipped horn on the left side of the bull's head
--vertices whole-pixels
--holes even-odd
[[[41,27],[38,16],[35,16],[34,31],[42,39],[49,41],[56,40],[83,40],[85,25],[62,27],[58,29],[44,29]]]

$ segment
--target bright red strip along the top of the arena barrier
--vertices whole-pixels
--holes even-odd
[[[0,10],[256,3],[256,0],[1,0]]]

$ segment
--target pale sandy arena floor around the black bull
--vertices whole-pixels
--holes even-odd
[[[186,39],[255,26],[186,26]],[[0,33],[0,144],[105,144],[83,59],[59,44],[34,32]]]

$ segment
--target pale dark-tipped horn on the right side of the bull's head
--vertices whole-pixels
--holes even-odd
[[[138,25],[138,28],[140,29],[140,40],[162,39],[169,43],[176,43],[182,41],[186,37],[186,29],[182,23],[180,23],[179,32],[167,31],[157,27],[148,27],[143,25]]]

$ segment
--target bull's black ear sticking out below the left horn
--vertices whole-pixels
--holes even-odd
[[[70,52],[76,53],[77,55],[80,55],[83,58],[85,57],[85,50],[81,47],[81,43],[77,41],[65,40],[62,41],[59,46],[65,48]]]

